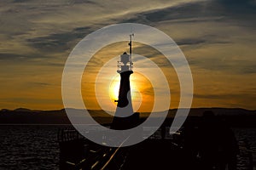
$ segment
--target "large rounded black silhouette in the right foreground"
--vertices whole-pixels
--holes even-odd
[[[186,124],[184,150],[191,166],[201,169],[236,170],[239,153],[235,134],[212,111],[205,111],[198,126]],[[197,164],[197,165],[196,165]]]

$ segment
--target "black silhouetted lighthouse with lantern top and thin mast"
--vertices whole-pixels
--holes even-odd
[[[119,99],[111,128],[116,130],[128,129],[137,126],[139,119],[139,113],[133,113],[131,103],[131,86],[130,76],[133,73],[133,63],[131,61],[131,37],[134,34],[130,34],[130,54],[126,52],[120,55],[118,61],[118,73],[120,74],[120,86],[119,86]]]

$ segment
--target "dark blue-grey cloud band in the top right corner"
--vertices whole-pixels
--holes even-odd
[[[125,21],[140,21],[157,26],[162,21],[173,22],[209,22],[235,19],[236,22],[255,26],[253,15],[256,5],[253,0],[213,0],[181,3],[176,6],[161,8],[160,10],[145,11],[135,18]],[[250,17],[251,16],[251,17]],[[250,20],[251,22],[247,22]]]

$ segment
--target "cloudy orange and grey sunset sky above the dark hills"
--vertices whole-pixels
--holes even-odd
[[[76,44],[103,26],[130,22],[165,32],[181,48],[194,81],[192,107],[255,110],[255,16],[255,0],[3,0],[0,2],[0,109],[63,108],[62,71]],[[102,49],[90,63],[105,64],[108,60],[99,56],[117,57],[127,48],[125,44]],[[179,85],[173,68],[161,66],[165,59],[142,44],[135,44],[134,53],[160,65],[170,85],[170,108],[176,108]],[[95,88],[91,84],[86,86],[86,77],[95,80],[99,65],[93,71],[85,69],[82,79],[83,99],[89,109],[100,109],[94,97]],[[136,74],[132,76],[136,79]],[[141,84],[137,82],[137,90],[144,96],[141,111],[146,111],[153,101],[152,86],[147,81],[145,78]],[[107,82],[113,82],[112,74]]]

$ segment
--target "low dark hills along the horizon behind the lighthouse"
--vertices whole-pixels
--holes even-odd
[[[79,111],[83,110],[70,109]],[[213,111],[216,116],[224,118],[233,126],[256,127],[256,111],[248,111],[240,108],[192,108],[189,111],[190,117],[200,117],[204,111]],[[104,111],[89,111],[96,122],[110,123],[112,116]],[[175,116],[177,109],[168,112],[168,118],[171,120]],[[149,113],[141,113],[145,119]],[[189,119],[188,118],[188,119]],[[33,111],[26,108],[19,108],[13,111],[3,109],[0,111],[0,124],[71,124],[64,109],[56,111]]]

